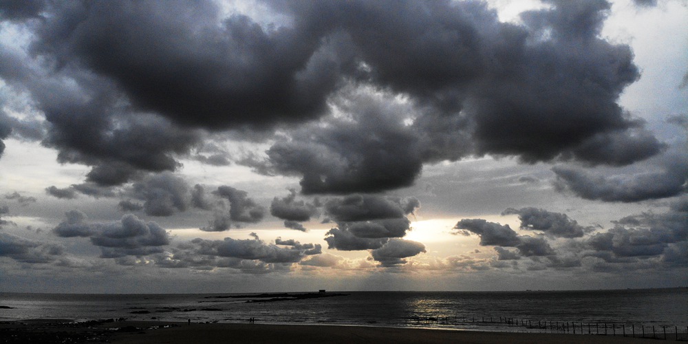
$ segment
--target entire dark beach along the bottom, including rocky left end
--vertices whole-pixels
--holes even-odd
[[[670,340],[673,338],[669,338]],[[656,343],[652,338],[521,334],[332,325],[264,325],[59,319],[0,323],[0,343]]]

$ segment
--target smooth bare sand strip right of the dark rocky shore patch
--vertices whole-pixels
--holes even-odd
[[[650,338],[574,334],[516,334],[331,325],[182,324],[117,334],[111,343],[656,343]]]

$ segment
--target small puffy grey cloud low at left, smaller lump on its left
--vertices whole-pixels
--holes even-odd
[[[169,235],[155,222],[144,222],[135,215],[124,215],[118,222],[89,223],[80,211],[69,211],[65,221],[53,228],[58,237],[89,237],[100,247],[103,258],[151,255],[169,245]]]

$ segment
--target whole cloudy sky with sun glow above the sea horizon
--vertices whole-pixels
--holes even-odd
[[[0,291],[688,286],[688,1],[0,3]]]

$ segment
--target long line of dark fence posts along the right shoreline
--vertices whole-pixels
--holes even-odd
[[[470,330],[480,330],[480,327],[489,327],[489,330],[497,330],[500,332],[591,334],[688,341],[688,326],[679,327],[678,325],[544,321],[510,318],[506,316],[412,316],[408,320],[411,324],[415,325],[437,324]]]

